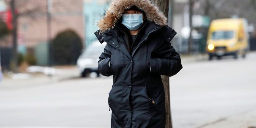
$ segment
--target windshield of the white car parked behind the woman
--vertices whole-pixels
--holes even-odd
[[[97,58],[103,51],[105,46],[89,46],[82,54],[82,58]]]

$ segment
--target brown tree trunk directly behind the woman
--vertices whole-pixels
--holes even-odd
[[[152,0],[152,1],[156,6],[158,6],[159,10],[162,11],[166,17],[168,17],[169,0]],[[169,23],[172,24],[172,21],[170,21]],[[166,108],[166,126],[165,127],[172,128],[169,77],[161,75],[161,78],[162,78],[163,86],[165,88],[165,108]]]

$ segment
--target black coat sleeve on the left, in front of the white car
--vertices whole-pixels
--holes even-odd
[[[109,44],[106,44],[106,46],[104,47],[104,52],[101,53],[99,58],[100,60],[98,61],[98,70],[100,74],[104,76],[111,76],[112,72],[108,65],[108,62],[111,60],[111,52],[110,52]]]

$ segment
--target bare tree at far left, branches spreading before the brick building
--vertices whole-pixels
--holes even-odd
[[[28,17],[30,19],[37,19],[41,15],[47,17],[47,0],[5,0],[10,6],[12,12],[12,58],[11,71],[18,72],[17,65],[17,29],[18,19],[20,17]],[[61,2],[54,2],[56,7],[64,7]],[[66,6],[65,6],[66,7]],[[67,7],[68,8],[68,7]]]

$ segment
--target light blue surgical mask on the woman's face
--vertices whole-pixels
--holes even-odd
[[[142,13],[140,14],[123,14],[122,24],[130,30],[137,30],[143,23]]]

